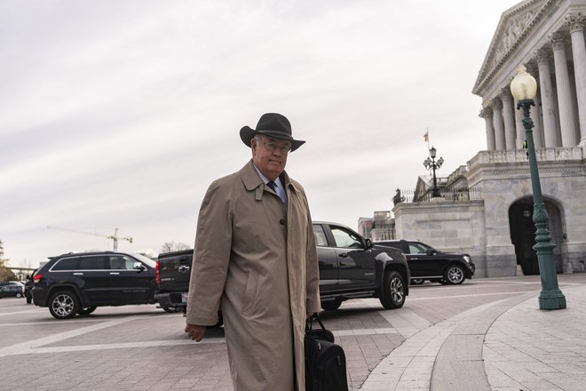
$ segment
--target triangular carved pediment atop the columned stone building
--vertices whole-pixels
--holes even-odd
[[[503,12],[490,43],[487,57],[482,63],[473,93],[490,81],[511,53],[521,44],[552,4],[564,0],[525,0]]]

